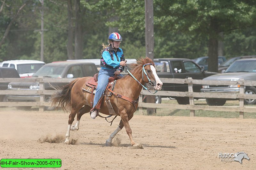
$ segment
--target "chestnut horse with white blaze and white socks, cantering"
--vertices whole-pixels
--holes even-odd
[[[138,99],[142,87],[145,88],[144,84],[149,83],[154,86],[155,90],[161,90],[163,83],[156,74],[156,68],[154,62],[146,57],[140,58],[137,63],[132,63],[133,68],[131,72],[124,76],[123,78],[116,80],[116,85],[113,91],[118,95],[109,96],[109,100],[113,106],[116,115],[121,117],[121,121],[117,129],[110,135],[108,140],[106,140],[106,146],[112,145],[112,139],[116,134],[125,127],[126,133],[130,138],[132,146],[138,146],[132,139],[132,129],[129,125],[129,120],[132,119],[135,110],[138,107]],[[84,84],[87,80],[92,77],[76,78],[69,84],[62,87],[56,87],[51,96],[52,107],[61,107],[64,112],[70,111],[68,119],[68,131],[66,133],[65,144],[70,144],[70,130],[78,130],[79,122],[81,116],[85,113],[89,113],[92,109],[91,101],[92,93],[83,92]],[[147,88],[146,88],[147,89]],[[130,99],[130,101],[125,100],[123,97]],[[94,95],[93,95],[94,98]],[[105,101],[106,96],[103,95],[103,101]],[[134,103],[131,102],[136,101]],[[110,115],[108,107],[105,102],[101,103],[99,113]],[[72,125],[75,116],[77,117],[76,124]]]

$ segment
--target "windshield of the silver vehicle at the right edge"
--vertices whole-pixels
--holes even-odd
[[[256,72],[256,60],[235,61],[226,72]]]

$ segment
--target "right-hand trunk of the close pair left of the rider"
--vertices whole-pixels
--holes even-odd
[[[82,31],[82,16],[80,9],[80,0],[76,0],[76,28],[75,28],[75,59],[83,58],[83,31]]]

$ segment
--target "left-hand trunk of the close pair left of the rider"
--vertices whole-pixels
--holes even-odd
[[[73,38],[74,38],[74,28],[73,28],[73,8],[72,0],[68,0],[68,43],[67,52],[68,59],[75,59],[73,55]]]

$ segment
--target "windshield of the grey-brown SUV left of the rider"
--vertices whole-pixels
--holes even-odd
[[[65,66],[44,65],[33,76],[60,78]]]

